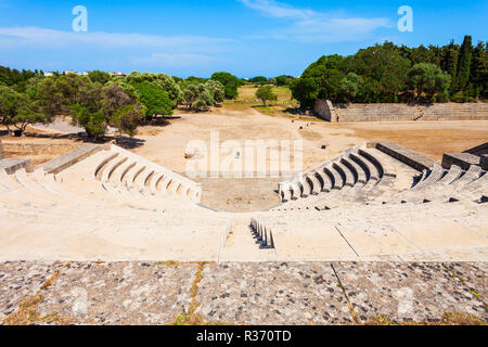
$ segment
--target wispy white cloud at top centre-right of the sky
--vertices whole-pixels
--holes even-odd
[[[317,12],[308,9],[293,8],[272,0],[237,1],[265,15],[292,21],[291,26],[274,33],[269,33],[268,38],[331,43],[362,40],[375,29],[393,27],[387,18],[352,17],[337,12]]]

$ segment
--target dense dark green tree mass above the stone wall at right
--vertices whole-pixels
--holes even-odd
[[[488,43],[409,48],[384,42],[349,56],[324,55],[290,86],[301,107],[336,103],[473,102],[488,99]]]

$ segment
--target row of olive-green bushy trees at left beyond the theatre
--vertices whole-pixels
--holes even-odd
[[[0,124],[22,134],[34,123],[69,115],[74,125],[99,139],[108,127],[133,136],[138,126],[170,116],[178,105],[198,112],[237,97],[237,77],[215,73],[210,79],[181,79],[165,74],[111,76],[16,70],[0,67]]]

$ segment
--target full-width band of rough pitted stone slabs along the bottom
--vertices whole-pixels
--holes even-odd
[[[487,270],[486,262],[0,262],[0,324],[435,323],[450,312],[481,323]]]

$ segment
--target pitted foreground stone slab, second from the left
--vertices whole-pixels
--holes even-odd
[[[188,310],[196,266],[74,262],[41,292],[42,316],[75,323],[168,324]]]

